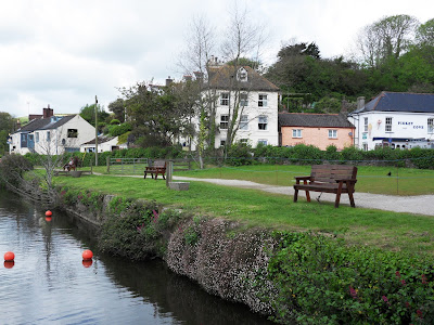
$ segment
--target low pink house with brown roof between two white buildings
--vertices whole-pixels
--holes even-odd
[[[279,142],[282,146],[315,145],[339,151],[354,144],[355,127],[343,114],[279,113]]]

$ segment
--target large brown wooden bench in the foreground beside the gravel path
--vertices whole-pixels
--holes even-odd
[[[309,191],[335,193],[334,207],[337,208],[341,194],[348,193],[349,203],[353,208],[354,186],[357,182],[357,167],[345,165],[314,165],[309,177],[295,177],[294,202],[298,199],[298,191],[306,191],[306,199],[310,202]],[[303,184],[301,183],[303,181]]]

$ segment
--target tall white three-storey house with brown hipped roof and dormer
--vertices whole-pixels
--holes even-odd
[[[260,76],[250,66],[237,68],[212,62],[208,69],[204,96],[215,99],[215,147],[226,144],[233,104],[239,104],[237,133],[233,142],[279,145],[278,104],[279,88]],[[197,120],[195,120],[199,125]],[[199,131],[199,130],[196,130]],[[194,140],[192,150],[195,150]]]

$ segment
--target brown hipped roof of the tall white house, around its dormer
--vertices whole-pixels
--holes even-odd
[[[260,76],[250,66],[242,66],[247,72],[247,81],[237,81],[241,90],[246,91],[279,91],[279,87]],[[242,68],[241,66],[238,69]],[[224,65],[209,68],[209,84],[214,89],[229,90],[231,81],[237,77],[233,66]],[[235,79],[237,80],[237,79]]]

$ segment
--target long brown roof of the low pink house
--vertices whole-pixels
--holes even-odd
[[[279,127],[354,128],[342,114],[279,113]]]

